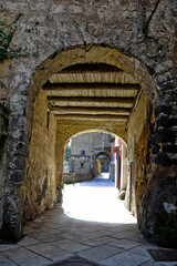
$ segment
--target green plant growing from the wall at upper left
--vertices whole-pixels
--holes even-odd
[[[6,59],[24,57],[20,49],[13,49],[11,42],[17,30],[17,22],[22,14],[19,13],[11,24],[0,21],[0,61]]]

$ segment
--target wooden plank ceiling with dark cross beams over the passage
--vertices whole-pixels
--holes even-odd
[[[108,64],[71,65],[43,86],[59,123],[103,121],[124,129],[139,89],[129,74]]]

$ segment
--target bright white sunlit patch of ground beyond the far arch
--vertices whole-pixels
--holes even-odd
[[[112,182],[101,177],[91,182],[65,185],[63,191],[64,213],[72,218],[82,221],[135,224],[136,218],[117,198],[117,190]]]

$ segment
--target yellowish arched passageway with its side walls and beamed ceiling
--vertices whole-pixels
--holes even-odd
[[[148,190],[148,139],[154,119],[147,91],[156,95],[155,88],[139,61],[107,47],[77,47],[60,52],[40,65],[30,85],[25,120],[18,122],[23,127],[33,110],[32,133],[29,131],[29,139],[23,140],[27,146],[30,140],[27,166],[21,149],[14,155],[10,175],[10,181],[20,185],[20,188],[15,186],[20,196],[13,198],[18,201],[18,212],[13,206],[10,211],[11,215],[14,211],[17,214],[15,234],[10,216],[3,214],[7,217],[3,226],[12,229],[12,238],[21,236],[21,214],[24,222],[33,219],[61,200],[65,142],[88,130],[112,132],[127,143],[128,191],[133,178],[131,165],[136,161],[135,196],[129,206],[135,215],[138,214],[142,229],[149,232],[152,216],[146,217],[143,198]]]

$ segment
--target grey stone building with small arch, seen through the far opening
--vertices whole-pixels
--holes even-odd
[[[64,182],[92,180],[102,172],[110,172],[110,135],[101,132],[83,133],[70,141],[69,173]]]

